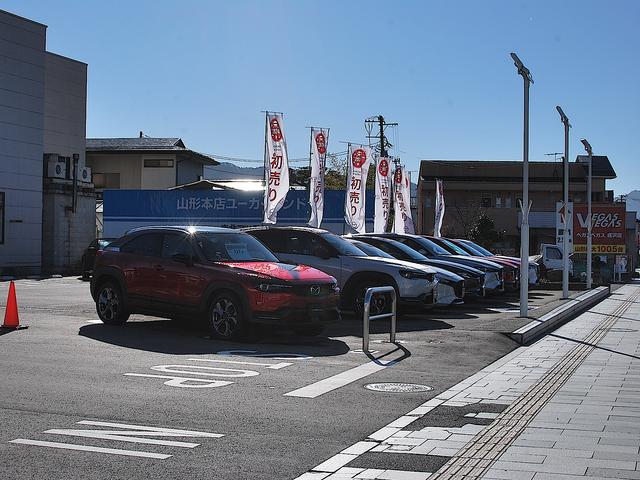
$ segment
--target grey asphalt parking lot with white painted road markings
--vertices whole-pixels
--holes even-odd
[[[197,323],[103,325],[74,277],[16,290],[29,328],[0,336],[0,472],[12,479],[295,478],[513,350],[503,332],[526,323],[517,296],[487,298],[399,318],[396,345],[376,322],[366,355],[350,318],[319,337],[228,343]],[[531,292],[534,316],[559,303]],[[431,390],[364,388],[384,382]]]

